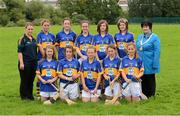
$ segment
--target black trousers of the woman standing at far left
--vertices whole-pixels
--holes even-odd
[[[19,66],[18,66],[19,67]],[[24,70],[19,69],[20,73],[20,96],[21,99],[33,100],[33,82],[36,76],[36,63],[24,66]]]

